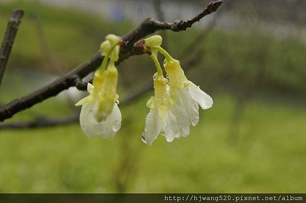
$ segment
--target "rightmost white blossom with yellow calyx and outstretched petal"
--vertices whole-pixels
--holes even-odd
[[[185,137],[189,134],[189,126],[196,126],[199,122],[198,104],[202,109],[208,109],[212,107],[213,99],[186,78],[179,61],[166,59],[164,66],[169,77],[169,94],[173,99],[171,110],[177,120],[175,137]]]

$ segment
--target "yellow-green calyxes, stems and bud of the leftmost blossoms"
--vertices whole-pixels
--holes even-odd
[[[94,74],[93,90],[88,90],[90,95],[75,104],[79,106],[92,101],[97,102],[97,111],[95,112],[97,122],[106,120],[118,99],[116,94],[118,71],[115,62],[119,59],[119,43],[120,38],[118,36],[112,34],[106,36],[106,41],[100,45],[101,55],[104,56],[104,59],[100,68]]]

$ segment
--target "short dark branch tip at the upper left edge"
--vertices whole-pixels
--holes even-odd
[[[5,36],[0,49],[0,85],[2,82],[6,65],[9,61],[10,53],[15,41],[15,37],[22,16],[23,16],[23,10],[21,9],[14,10],[7,25],[7,30],[5,32]]]

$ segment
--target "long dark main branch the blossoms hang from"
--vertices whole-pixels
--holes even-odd
[[[138,27],[136,27],[133,31],[126,34],[122,38],[123,45],[120,48],[117,65],[128,59],[130,56],[143,54],[143,52],[133,47],[134,43],[138,40],[158,30],[171,30],[174,32],[186,30],[188,27],[191,27],[193,23],[199,21],[202,17],[216,11],[221,4],[222,1],[211,2],[203,12],[187,21],[176,20],[173,23],[168,23],[157,21],[152,18],[145,19]],[[73,69],[66,75],[59,77],[54,82],[44,86],[42,89],[37,90],[25,97],[15,99],[10,103],[0,107],[0,121],[2,122],[6,119],[9,119],[15,113],[30,108],[31,106],[42,102],[49,97],[56,96],[71,86],[80,86],[77,85],[80,84],[80,79],[75,78],[84,78],[86,75],[93,72],[98,66],[100,66],[102,60],[103,56],[101,56],[100,52],[97,52],[88,62],[85,62],[79,67]],[[84,84],[81,86],[84,87]]]

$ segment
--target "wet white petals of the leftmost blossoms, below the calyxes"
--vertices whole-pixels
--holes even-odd
[[[87,91],[90,96],[87,97],[88,99],[87,101],[85,100],[85,103],[79,103],[79,105],[83,105],[80,114],[81,128],[87,136],[113,137],[121,127],[121,112],[117,103],[114,103],[108,117],[104,121],[98,122],[95,115],[98,111],[99,102],[97,99],[91,98],[93,89],[94,86],[88,83]]]

